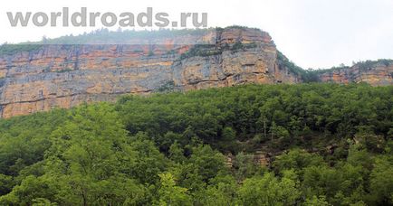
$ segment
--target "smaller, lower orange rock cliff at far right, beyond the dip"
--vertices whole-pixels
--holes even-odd
[[[324,82],[350,83],[367,82],[373,86],[393,85],[393,61],[358,63],[353,67],[327,70],[318,74]]]

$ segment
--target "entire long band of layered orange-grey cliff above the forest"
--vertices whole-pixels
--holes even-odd
[[[195,39],[213,43],[182,43]],[[228,27],[167,35],[160,39],[165,43],[135,43],[144,41],[139,35],[132,44],[3,45],[0,117],[113,101],[121,94],[244,83],[393,83],[392,61],[302,70],[277,51],[268,33],[258,29]]]

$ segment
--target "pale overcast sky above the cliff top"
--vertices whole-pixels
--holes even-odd
[[[393,0],[12,0],[0,7],[0,43],[40,41],[98,27],[12,27],[7,12],[207,13],[209,27],[244,25],[273,37],[278,50],[304,69],[393,59]],[[116,30],[117,28],[112,28]]]

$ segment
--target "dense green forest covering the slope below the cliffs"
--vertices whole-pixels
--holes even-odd
[[[0,205],[393,205],[393,86],[243,85],[2,119]]]

